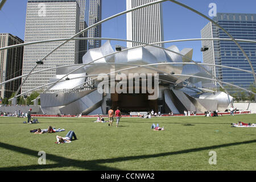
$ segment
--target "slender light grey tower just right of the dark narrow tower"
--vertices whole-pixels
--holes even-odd
[[[85,22],[85,7],[86,7],[86,0],[77,0],[77,3],[80,7],[80,28],[79,30],[82,31],[87,28],[87,24]],[[80,34],[80,38],[87,38],[87,32]],[[80,40],[79,41],[79,64],[82,63],[82,56],[85,55],[87,51],[87,40]]]

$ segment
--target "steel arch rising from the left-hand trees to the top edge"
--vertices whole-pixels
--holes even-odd
[[[121,13],[118,13],[118,14],[115,14],[115,15],[113,15],[113,16],[110,16],[109,18],[106,18],[106,19],[104,19],[104,20],[101,20],[100,22],[94,23],[92,26],[89,26],[89,27],[85,28],[84,30],[78,32],[77,34],[73,35],[71,38],[69,38],[68,40],[66,40],[64,43],[61,43],[59,46],[57,46],[57,47],[54,48],[52,51],[50,51],[46,56],[44,56],[43,59],[40,59],[40,61],[43,61],[44,59],[46,59],[49,55],[51,55],[51,53],[53,53],[54,51],[56,51],[57,49],[59,49],[59,48],[60,48],[61,46],[63,46],[65,43],[68,43],[69,41],[73,40],[73,38],[75,38],[76,36],[78,36],[78,35],[84,33],[85,31],[89,30],[89,29],[92,28],[92,27],[97,26],[98,24],[104,23],[104,22],[106,22],[106,21],[108,21],[108,20],[110,20],[110,19],[113,19],[113,18],[117,17],[117,16],[120,16],[120,15],[123,15],[123,14],[127,14],[127,13],[129,13],[129,12],[131,12],[131,11],[135,11],[135,10],[141,9],[142,7],[146,7],[146,6],[150,6],[150,5],[155,5],[155,4],[157,4],[157,3],[164,2],[164,1],[167,1],[167,0],[159,0],[159,1],[155,1],[155,2],[150,2],[150,3],[147,3],[147,4],[145,4],[145,5],[138,6],[138,7],[134,7],[133,9],[123,11],[123,12],[121,12]],[[38,64],[36,64],[35,67],[31,69],[30,73],[31,73],[32,71],[34,71],[34,69],[35,69],[37,66],[38,66]],[[28,73],[28,76],[30,76],[30,73]],[[22,87],[22,85],[24,84],[24,82],[27,80],[28,76],[25,77],[24,80],[21,82],[21,84],[20,84],[20,86],[19,86],[18,90],[16,91],[15,96],[14,96],[13,98],[15,98],[15,97],[17,96],[17,94],[18,94],[20,88]]]

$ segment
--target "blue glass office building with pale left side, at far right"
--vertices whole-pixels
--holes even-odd
[[[235,39],[256,40],[256,14],[217,13],[213,18],[215,22],[225,28]],[[209,22],[201,30],[201,38],[230,38],[220,28]],[[256,69],[256,44],[238,42],[246,52],[254,70]],[[251,67],[240,48],[234,42],[222,40],[203,40],[202,46],[209,47],[203,52],[204,63],[225,65],[251,71]],[[214,76],[220,81],[241,86],[247,89],[254,82],[250,73],[235,69],[212,67]],[[230,90],[232,91],[232,90]]]

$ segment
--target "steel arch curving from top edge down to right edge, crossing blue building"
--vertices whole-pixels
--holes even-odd
[[[246,52],[243,50],[243,48],[240,46],[240,44],[238,44],[238,42],[236,41],[236,39],[233,38],[233,36],[231,34],[229,34],[228,31],[225,30],[225,28],[221,27],[218,23],[214,22],[212,19],[208,18],[207,16],[205,16],[204,14],[200,13],[199,11],[193,9],[192,7],[189,7],[187,5],[184,5],[183,3],[180,3],[180,2],[177,2],[175,0],[168,0],[168,1],[171,1],[173,3],[176,3],[177,5],[180,5],[182,7],[185,7],[186,9],[188,10],[191,10],[193,11],[194,13],[202,16],[203,18],[209,20],[210,22],[212,22],[213,24],[215,24],[218,28],[221,28],[222,31],[224,31],[226,33],[226,35],[228,35],[234,43],[236,43],[237,47],[240,48],[240,50],[242,51],[243,55],[246,57],[247,61],[249,62],[250,64],[250,67],[251,67],[251,71],[253,72],[253,76],[254,76],[254,82],[255,82],[255,85],[256,85],[256,76],[255,76],[255,72],[254,72],[254,68],[253,68],[253,64],[251,64],[251,61],[249,59],[249,57],[247,56]],[[256,100],[256,98],[255,98]]]

